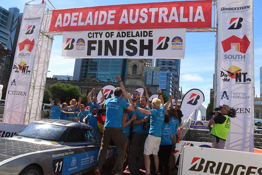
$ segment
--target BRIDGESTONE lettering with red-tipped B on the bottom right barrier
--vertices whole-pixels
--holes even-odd
[[[199,161],[199,159],[201,159]],[[234,165],[232,163],[214,162],[205,160],[203,158],[194,157],[192,163],[194,164],[189,171],[203,172],[206,174],[219,174],[219,175],[262,175],[262,166],[245,166]]]

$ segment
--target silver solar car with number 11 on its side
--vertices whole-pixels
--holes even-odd
[[[12,138],[0,139],[0,174],[24,175],[32,169],[33,174],[81,175],[95,169],[100,147],[101,135],[88,124],[34,121]],[[109,146],[105,163],[116,155]]]

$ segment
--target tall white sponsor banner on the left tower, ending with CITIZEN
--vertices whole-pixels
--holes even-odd
[[[5,97],[3,122],[24,124],[36,47],[45,4],[25,5],[13,69]]]

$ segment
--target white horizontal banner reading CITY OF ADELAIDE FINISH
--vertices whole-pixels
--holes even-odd
[[[103,30],[63,33],[65,58],[177,58],[186,29]]]

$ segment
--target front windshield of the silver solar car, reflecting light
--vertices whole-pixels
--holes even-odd
[[[32,123],[27,124],[22,130],[17,132],[16,136],[59,142],[61,135],[66,129],[66,126]]]

